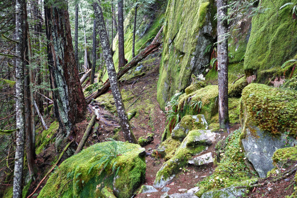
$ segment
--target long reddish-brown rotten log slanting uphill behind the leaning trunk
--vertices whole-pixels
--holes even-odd
[[[148,56],[149,54],[157,50],[159,45],[160,43],[156,42],[156,43],[150,44],[145,49],[143,49],[137,56],[135,56],[128,64],[126,64],[126,66],[124,66],[118,72],[117,74],[118,79],[120,79],[126,72],[128,72],[129,69],[131,69],[132,67],[135,67],[138,64],[138,62],[141,61],[143,58],[145,58],[146,56]],[[96,93],[93,93],[86,98],[87,104],[90,104],[90,102],[92,101],[92,98],[96,99],[102,94],[104,94],[108,90],[108,88],[110,88],[109,79],[107,79],[105,83],[103,83],[103,86],[99,88]]]

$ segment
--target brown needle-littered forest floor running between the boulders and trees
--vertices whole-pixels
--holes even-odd
[[[160,109],[157,102],[157,82],[159,77],[159,64],[161,61],[161,49],[157,50],[153,54],[145,58],[143,63],[142,71],[145,71],[145,75],[138,77],[137,79],[129,78],[128,75],[124,76],[129,80],[121,80],[120,88],[122,91],[124,104],[127,112],[135,112],[136,114],[131,119],[132,130],[135,137],[146,136],[147,133],[154,133],[154,141],[145,146],[147,156],[146,156],[146,180],[142,185],[153,186],[156,174],[164,163],[163,159],[154,158],[151,156],[154,149],[158,147],[161,143],[161,136],[166,126],[166,115]],[[135,68],[133,68],[134,70]],[[88,82],[86,83],[86,86]],[[124,93],[124,94],[123,94]],[[76,145],[72,146],[70,149],[75,151],[75,148],[79,144],[86,127],[89,124],[89,119],[94,114],[94,107],[99,107],[100,119],[96,121],[99,124],[98,132],[94,135],[90,134],[88,140],[85,143],[84,148],[89,147],[90,145],[96,144],[98,142],[107,141],[108,138],[113,138],[119,141],[125,141],[122,132],[115,133],[114,129],[120,128],[119,119],[115,114],[115,107],[113,105],[113,97],[111,91],[108,91],[106,94],[100,96],[95,102],[88,105],[88,111],[86,119],[77,123],[74,132],[69,136],[69,140],[75,139]],[[111,113],[112,112],[112,113]],[[47,122],[50,123],[51,118],[47,119]],[[238,129],[240,124],[234,125],[231,127],[230,132]],[[228,136],[228,133],[219,133],[217,135],[216,142],[221,139],[224,139]],[[209,148],[200,153],[212,152],[212,156],[216,156],[215,143]],[[56,153],[54,143],[49,144],[45,150],[37,156],[37,168],[39,174],[37,180],[32,182],[31,193],[39,181],[43,178],[46,172],[50,169],[52,161],[59,156],[59,153]],[[64,159],[69,157],[67,153],[64,154],[61,162]],[[61,163],[60,162],[60,163]],[[200,167],[187,166],[181,172],[176,174],[171,183],[166,187],[169,187],[170,190],[168,194],[174,193],[185,193],[187,190],[195,187],[199,181],[202,181],[205,177],[211,175],[214,171],[213,164],[207,164]],[[285,197],[284,194],[289,195],[292,193],[292,189],[285,191],[285,188],[291,183],[293,176],[290,179],[280,180],[276,183],[269,184],[270,186],[260,186],[251,191],[250,194],[247,194],[246,197]],[[45,180],[46,182],[46,180]],[[45,182],[42,186],[45,185]],[[41,190],[38,189],[37,193]],[[140,186],[141,187],[141,186]],[[140,189],[140,188],[139,188]],[[162,192],[161,189],[157,189],[158,192],[153,193],[141,193],[135,194],[135,198],[144,198],[144,197],[160,197],[165,192]],[[137,191],[136,191],[137,193]]]

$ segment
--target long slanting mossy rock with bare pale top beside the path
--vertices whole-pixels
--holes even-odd
[[[156,179],[154,181],[154,187],[162,188],[166,186],[170,180],[173,179],[176,173],[178,173],[179,169],[188,164],[191,156],[197,155],[207,149],[206,146],[210,145],[212,140],[215,140],[212,138],[213,135],[214,134],[210,131],[190,131],[189,134],[187,134],[187,137],[184,138],[183,142],[181,142],[174,153],[172,153],[173,156],[168,161],[166,161],[157,172]],[[173,139],[171,139],[171,141],[173,141],[172,143],[176,142]]]

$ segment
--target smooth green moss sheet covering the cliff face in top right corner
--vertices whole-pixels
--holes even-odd
[[[244,60],[245,73],[257,74],[257,82],[264,83],[275,75],[282,64],[293,58],[297,52],[296,21],[290,14],[290,7],[278,10],[286,0],[266,1],[261,5],[269,8],[252,18],[252,30]],[[294,4],[296,0],[290,1]],[[274,8],[274,6],[276,8]]]

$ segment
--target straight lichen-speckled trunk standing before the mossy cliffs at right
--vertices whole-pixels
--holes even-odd
[[[228,128],[228,23],[227,0],[217,0],[218,13],[218,84],[219,84],[219,126]]]

